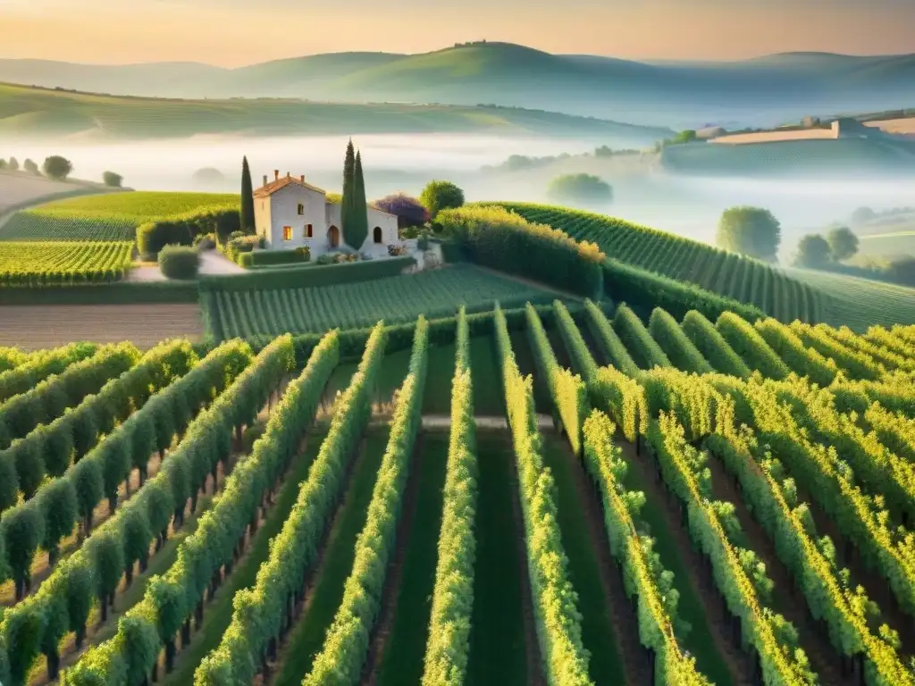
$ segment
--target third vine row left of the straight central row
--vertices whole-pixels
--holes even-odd
[[[274,353],[285,364],[291,361],[291,342],[290,337],[283,337],[273,344]],[[111,683],[120,674],[125,675],[120,681],[128,686],[146,683],[150,671],[156,670],[163,644],[166,670],[171,669],[176,635],[180,631],[187,645],[191,616],[203,620],[208,587],[211,596],[221,582],[221,570],[231,573],[235,553],[245,532],[253,531],[264,498],[274,492],[300,452],[302,436],[338,361],[339,338],[332,332],[315,348],[302,374],[287,386],[264,434],[255,442],[251,456],[232,471],[221,498],[200,519],[197,531],[181,542],[178,561],[147,586],[143,601],[125,616],[114,638],[87,652],[73,670],[64,673],[68,684]],[[250,591],[236,595],[236,608],[243,606],[242,593]],[[223,672],[223,679],[230,677]]]

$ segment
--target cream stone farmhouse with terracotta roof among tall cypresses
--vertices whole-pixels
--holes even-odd
[[[339,202],[328,200],[327,191],[306,183],[305,177],[286,172],[254,189],[254,228],[265,239],[267,250],[291,250],[306,246],[312,259],[343,249],[346,237],[340,222]],[[371,257],[386,257],[389,245],[401,245],[397,216],[368,208],[369,234],[357,249]]]

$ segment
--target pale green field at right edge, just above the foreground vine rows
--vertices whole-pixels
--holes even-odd
[[[785,269],[799,281],[827,295],[824,323],[855,331],[869,326],[915,324],[915,288],[807,269]]]

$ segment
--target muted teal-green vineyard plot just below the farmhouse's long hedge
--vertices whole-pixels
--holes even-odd
[[[371,327],[379,318],[395,324],[421,314],[450,316],[455,303],[489,309],[493,300],[515,306],[553,298],[548,291],[469,264],[319,287],[239,290],[216,285],[201,296],[206,331],[217,340]]]

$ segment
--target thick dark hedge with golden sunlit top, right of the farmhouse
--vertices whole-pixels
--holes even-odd
[[[579,295],[603,293],[604,254],[593,243],[579,243],[501,208],[447,209],[436,221],[462,243],[472,262]]]

